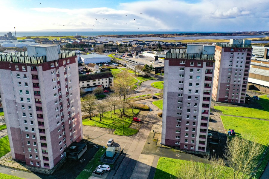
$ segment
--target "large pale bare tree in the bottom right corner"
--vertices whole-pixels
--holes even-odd
[[[228,173],[232,173],[233,179],[248,178],[255,172],[264,150],[261,144],[239,137],[228,139],[225,148],[224,157],[232,170]]]

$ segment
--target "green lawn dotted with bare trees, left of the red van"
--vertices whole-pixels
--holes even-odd
[[[109,128],[109,129],[116,129],[114,134],[116,135],[123,135],[123,123],[124,123],[124,135],[134,135],[137,133],[136,129],[131,129],[129,126],[132,124],[133,116],[137,116],[139,110],[134,109],[134,113],[132,113],[132,109],[125,109],[125,114],[128,116],[123,116],[120,118],[120,110],[116,110],[116,114],[112,111],[112,118],[110,118],[110,111],[107,111],[103,114],[100,121],[98,116],[95,116],[95,124],[97,127]],[[94,118],[93,120],[83,119],[83,125],[94,126]]]

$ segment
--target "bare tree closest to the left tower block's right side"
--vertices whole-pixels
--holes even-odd
[[[90,115],[90,120],[91,120],[91,115],[95,109],[94,105],[96,101],[97,101],[97,98],[93,93],[85,95],[82,98],[81,107],[85,112],[88,112],[88,114]]]

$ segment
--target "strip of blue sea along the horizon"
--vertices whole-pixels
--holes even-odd
[[[138,34],[175,34],[175,33],[226,33],[226,32],[192,32],[192,31],[29,31],[20,32],[17,31],[17,37],[29,37],[29,36],[106,36],[106,35],[138,35]],[[0,32],[0,36],[4,36],[7,32]],[[12,32],[15,36],[15,32]]]

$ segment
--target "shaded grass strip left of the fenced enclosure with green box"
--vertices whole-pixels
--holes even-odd
[[[106,149],[100,148],[99,149],[99,156],[101,157],[105,152],[106,152]],[[104,163],[102,163],[102,162],[99,161],[98,151],[97,151],[95,153],[94,157],[91,159],[91,161],[89,161],[89,163],[85,166],[84,169],[86,169],[86,170],[82,170],[80,172],[80,174],[77,176],[76,179],[88,179],[92,175],[92,172],[94,171],[94,169],[98,165],[102,165],[102,164],[104,164]],[[111,168],[113,168],[113,165],[109,164],[109,166]]]

